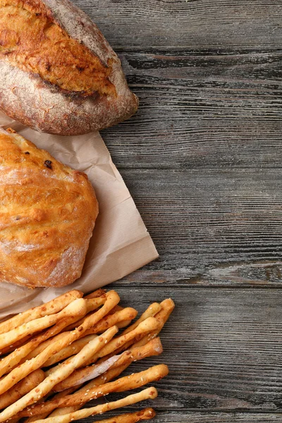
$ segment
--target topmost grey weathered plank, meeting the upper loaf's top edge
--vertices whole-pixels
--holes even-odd
[[[113,47],[281,46],[281,0],[75,0],[75,4]]]

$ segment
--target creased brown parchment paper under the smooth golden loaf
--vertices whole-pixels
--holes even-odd
[[[158,257],[130,192],[98,132],[76,137],[37,133],[1,112],[0,126],[13,128],[55,159],[87,173],[99,202],[99,216],[82,276],[63,288],[31,290],[0,282],[0,318],[40,305],[73,288],[90,292]]]

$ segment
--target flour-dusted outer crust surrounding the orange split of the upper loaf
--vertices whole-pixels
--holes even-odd
[[[5,1],[0,1],[0,13]],[[11,1],[17,4],[17,0]],[[31,8],[41,6],[42,18],[51,16],[62,31],[98,58],[108,69],[107,78],[115,92],[96,90],[85,95],[85,92],[63,90],[56,83],[44,80],[39,73],[19,68],[7,53],[0,55],[0,108],[35,130],[60,135],[100,130],[132,116],[137,110],[138,99],[128,88],[121,61],[90,18],[68,0],[20,2],[25,3]],[[38,15],[39,19],[41,15]],[[42,60],[45,59],[42,51]]]

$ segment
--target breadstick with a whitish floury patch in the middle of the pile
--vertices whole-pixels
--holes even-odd
[[[153,355],[159,355],[163,352],[160,338],[154,338],[152,341],[149,341],[146,345],[143,345],[139,348],[133,348],[125,351],[121,355],[114,356],[116,360],[111,362],[109,358],[106,361],[101,361],[97,364],[94,364],[90,367],[83,367],[82,369],[75,370],[63,380],[60,384],[54,386],[54,391],[63,391],[64,389],[70,388],[78,384],[84,384],[91,379],[96,378],[99,374],[104,374],[108,369],[116,369],[116,367],[123,366],[123,364],[130,364],[133,361],[143,360],[146,357],[152,357]],[[109,364],[108,364],[109,362]]]

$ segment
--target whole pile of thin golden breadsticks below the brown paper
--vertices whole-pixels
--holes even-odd
[[[119,377],[133,361],[161,354],[157,335],[173,301],[154,302],[130,325],[137,311],[120,307],[119,300],[114,290],[86,296],[71,290],[0,323],[0,422],[25,417],[28,423],[68,423],[156,398],[156,388],[150,387],[121,400],[83,407],[168,374],[168,367],[159,364]],[[134,423],[154,415],[147,408],[99,422]]]

